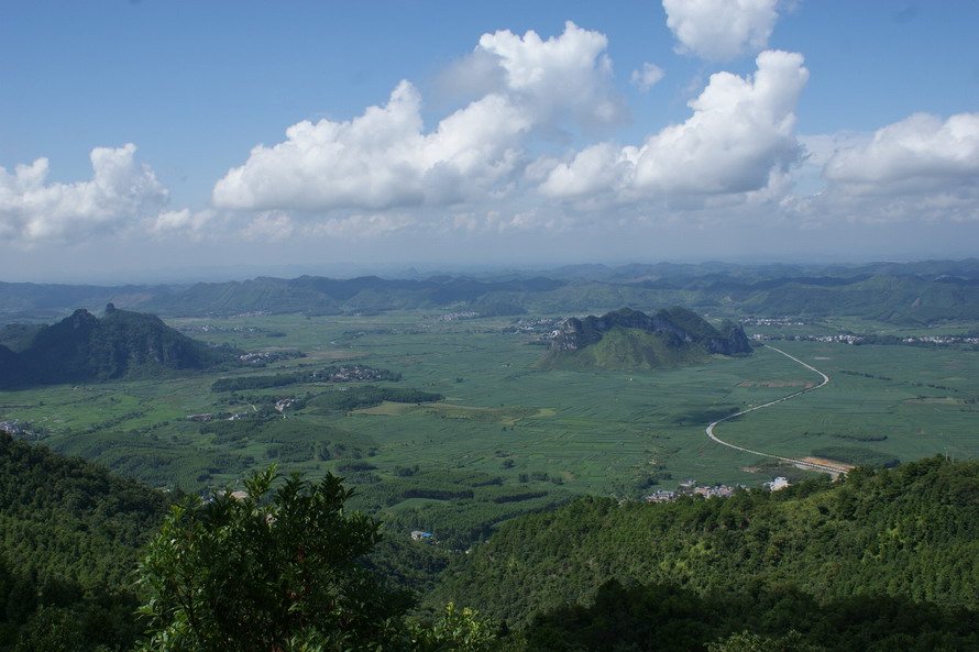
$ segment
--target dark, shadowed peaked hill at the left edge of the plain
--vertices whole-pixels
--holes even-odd
[[[48,327],[0,331],[0,387],[160,377],[231,363],[231,349],[175,331],[152,314],[106,307],[101,319],[84,308]]]

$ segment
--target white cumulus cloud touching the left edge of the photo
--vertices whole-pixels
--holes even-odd
[[[167,190],[146,165],[138,165],[136,147],[96,147],[92,178],[74,184],[47,184],[48,162],[18,165],[13,174],[0,167],[0,235],[24,244],[65,242],[130,225],[158,211]]]

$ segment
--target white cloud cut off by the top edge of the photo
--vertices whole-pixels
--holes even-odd
[[[663,0],[679,52],[727,60],[758,52],[779,18],[779,0]]]

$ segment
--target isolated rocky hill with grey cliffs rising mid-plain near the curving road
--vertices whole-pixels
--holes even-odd
[[[732,322],[718,330],[680,307],[651,317],[622,308],[602,317],[564,320],[541,366],[649,369],[703,362],[712,354],[749,353],[748,338]]]

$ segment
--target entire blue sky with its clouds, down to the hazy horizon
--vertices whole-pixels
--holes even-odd
[[[977,255],[979,2],[0,4],[0,280]]]

